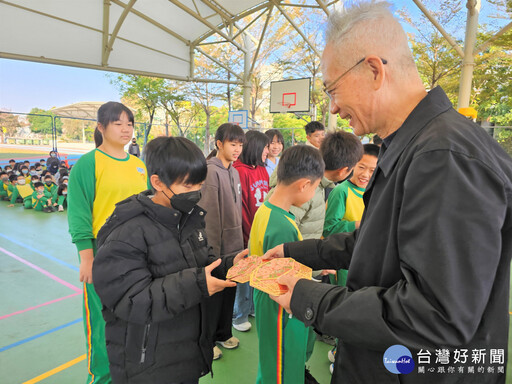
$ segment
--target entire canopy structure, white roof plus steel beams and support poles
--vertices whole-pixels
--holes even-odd
[[[0,0],[0,58],[184,81],[243,84],[244,109],[248,109],[250,76],[272,11],[277,10],[284,16],[286,22],[319,55],[316,46],[295,24],[287,9],[317,8],[328,14],[332,5],[338,3],[338,0],[296,0],[296,4],[291,1]],[[413,2],[463,59],[459,106],[467,106],[474,56],[510,30],[512,22],[476,47],[481,0],[467,0],[468,19],[463,49],[421,0]],[[265,27],[261,35],[254,38],[248,28],[260,17],[266,17]],[[244,73],[240,70],[236,73],[202,49],[204,45],[213,43],[230,44],[235,51],[241,52]],[[212,79],[206,78],[207,75],[196,75],[196,54],[204,55],[234,76],[231,79],[229,76],[228,79]],[[234,61],[240,62],[238,58]]]

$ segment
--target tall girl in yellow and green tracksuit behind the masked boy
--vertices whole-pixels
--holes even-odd
[[[146,166],[124,151],[133,122],[133,113],[121,103],[103,104],[95,132],[97,148],[77,161],[69,177],[69,233],[80,255],[79,278],[84,283],[87,384],[112,382],[102,305],[92,284],[96,235],[118,202],[147,189]]]

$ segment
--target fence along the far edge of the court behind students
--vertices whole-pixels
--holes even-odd
[[[30,113],[0,112],[0,143],[52,145],[74,143],[90,147],[94,143],[96,120],[52,116]],[[158,136],[183,136],[196,143],[205,154],[215,145],[215,133],[198,126],[177,127],[175,124],[152,124],[135,122],[135,137],[139,145],[144,143],[144,134],[149,129],[148,140]],[[216,127],[215,127],[216,128]],[[296,143],[305,143],[304,128],[276,128],[281,131],[285,148]],[[512,127],[485,127],[494,139],[512,156]]]

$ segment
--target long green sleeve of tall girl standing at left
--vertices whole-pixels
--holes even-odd
[[[93,248],[92,208],[95,198],[94,151],[73,166],[68,182],[68,224],[71,241],[78,251]]]

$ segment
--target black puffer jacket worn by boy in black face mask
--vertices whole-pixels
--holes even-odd
[[[149,193],[118,203],[97,239],[93,281],[114,383],[181,382],[211,370],[206,212],[184,217]],[[219,277],[232,260],[214,270]]]

